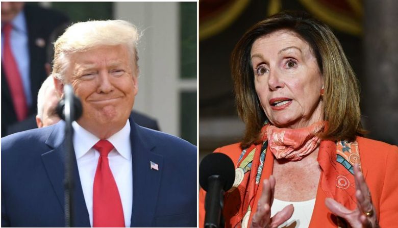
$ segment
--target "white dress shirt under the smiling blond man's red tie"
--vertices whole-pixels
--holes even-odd
[[[72,123],[72,126],[74,130],[73,146],[78,163],[80,182],[92,227],[93,185],[99,158],[99,152],[92,147],[99,141],[99,138],[86,131],[76,121]],[[130,227],[133,205],[130,121],[127,120],[126,125],[107,140],[115,147],[108,155],[109,166],[119,190],[126,227]]]

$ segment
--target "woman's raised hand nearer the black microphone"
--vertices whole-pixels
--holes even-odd
[[[275,191],[275,178],[271,175],[269,180],[263,182],[263,192],[258,201],[257,211],[253,215],[251,228],[278,227],[293,214],[293,205],[286,206],[271,218],[273,192]]]

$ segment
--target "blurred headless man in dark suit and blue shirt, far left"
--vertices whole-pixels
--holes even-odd
[[[46,47],[54,30],[66,27],[69,19],[60,12],[21,2],[2,2],[2,136],[6,136],[10,124],[22,121],[36,114],[37,92],[47,77],[44,64],[47,61]],[[11,25],[9,40],[4,28]],[[11,44],[12,57],[5,55]],[[14,59],[16,70],[9,69],[10,59]],[[16,89],[10,82],[12,72],[17,72],[22,86]],[[11,77],[16,77],[12,75]],[[15,92],[24,97],[23,114],[18,115],[15,107]],[[12,95],[13,94],[13,95]]]

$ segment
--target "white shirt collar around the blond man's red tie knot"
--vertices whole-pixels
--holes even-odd
[[[76,154],[76,159],[83,155],[99,141],[99,138],[84,129],[79,123],[74,121],[72,123],[74,130],[73,146]],[[116,151],[125,159],[131,158],[131,142],[130,142],[130,121],[126,122],[123,128],[107,139],[115,147]]]

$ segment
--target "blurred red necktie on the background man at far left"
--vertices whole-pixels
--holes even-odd
[[[12,103],[18,121],[25,119],[28,115],[28,105],[23,90],[22,79],[19,74],[17,63],[11,50],[11,31],[12,24],[7,23],[3,27],[4,32],[4,50],[3,66],[6,72],[6,79],[10,88]]]

